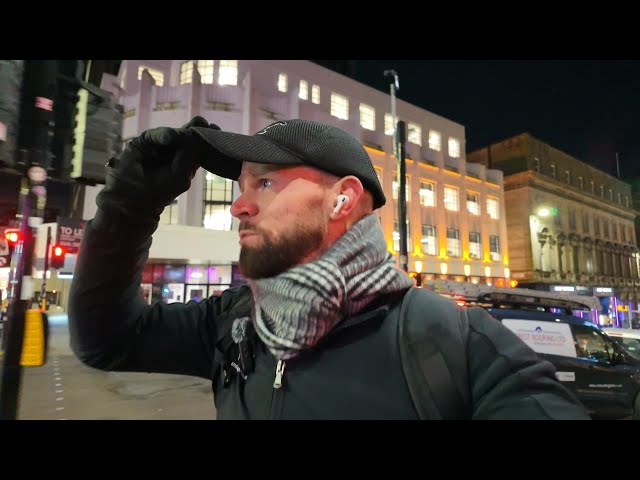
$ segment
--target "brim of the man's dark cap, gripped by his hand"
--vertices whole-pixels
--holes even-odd
[[[191,127],[215,151],[205,155],[200,165],[205,170],[231,180],[240,176],[242,162],[272,165],[302,165],[304,160],[260,135],[242,135],[206,127]]]

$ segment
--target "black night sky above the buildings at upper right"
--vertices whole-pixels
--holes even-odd
[[[465,127],[467,151],[529,132],[623,179],[640,175],[640,60],[356,60],[354,78]]]

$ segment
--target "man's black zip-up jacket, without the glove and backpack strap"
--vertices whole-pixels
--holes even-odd
[[[278,362],[259,340],[249,344],[255,365],[247,372],[235,354],[222,354],[229,351],[222,333],[233,320],[226,313],[250,295],[248,288],[201,302],[147,305],[137,293],[149,229],[98,216],[86,225],[69,300],[71,347],[85,364],[210,378],[218,419],[417,418],[398,349],[401,295],[344,319],[316,348],[288,360],[278,386]],[[251,302],[244,305],[234,318],[249,315]],[[511,335],[505,332],[488,315],[470,317],[469,416],[587,418],[549,362],[522,342],[507,350],[497,346]]]

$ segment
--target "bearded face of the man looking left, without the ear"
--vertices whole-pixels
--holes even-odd
[[[320,172],[244,162],[238,183],[231,214],[240,220],[245,277],[273,277],[324,251],[331,195]]]

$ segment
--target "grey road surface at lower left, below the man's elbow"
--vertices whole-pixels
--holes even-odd
[[[46,365],[22,369],[19,420],[215,420],[209,380],[92,369],[69,348],[66,316],[50,325]]]

